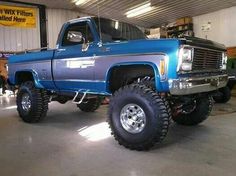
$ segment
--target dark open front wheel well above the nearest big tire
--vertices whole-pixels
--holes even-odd
[[[150,65],[124,65],[115,66],[110,72],[109,90],[115,92],[120,87],[131,84],[138,78],[154,77],[153,67]]]

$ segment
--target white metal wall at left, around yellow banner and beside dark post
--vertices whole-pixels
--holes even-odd
[[[20,4],[9,4],[24,6]],[[47,34],[49,48],[56,47],[57,36],[63,23],[78,16],[85,16],[76,11],[62,9],[46,9],[47,13]],[[0,51],[23,51],[26,49],[40,48],[39,15],[37,9],[36,28],[15,28],[0,26]]]

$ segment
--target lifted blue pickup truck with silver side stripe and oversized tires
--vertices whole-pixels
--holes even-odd
[[[51,101],[93,112],[109,96],[115,139],[147,150],[171,119],[197,125],[209,116],[214,91],[228,81],[225,51],[209,40],[151,40],[131,24],[84,17],[63,25],[56,49],[10,57],[8,81],[28,123],[41,121]]]

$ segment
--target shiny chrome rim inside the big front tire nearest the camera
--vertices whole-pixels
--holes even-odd
[[[140,133],[146,125],[146,115],[137,104],[127,104],[120,112],[122,127],[129,133]]]

